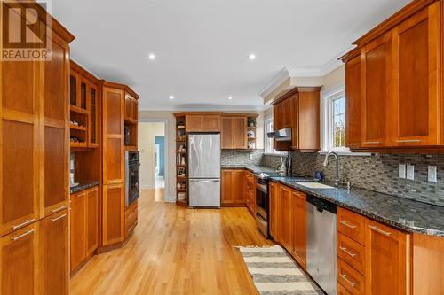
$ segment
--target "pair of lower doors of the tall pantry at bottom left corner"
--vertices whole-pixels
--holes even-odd
[[[0,293],[68,293],[67,210],[0,238]]]

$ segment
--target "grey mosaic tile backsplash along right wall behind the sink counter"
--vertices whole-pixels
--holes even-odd
[[[335,161],[323,167],[324,155],[292,152],[293,175],[313,176],[314,170],[324,172],[327,181],[334,181]],[[261,165],[276,168],[281,158],[264,155]],[[398,178],[398,165],[415,165],[415,180]],[[438,182],[427,181],[427,166],[436,166]],[[341,182],[402,198],[411,198],[428,204],[444,206],[444,155],[375,154],[369,157],[339,156]]]

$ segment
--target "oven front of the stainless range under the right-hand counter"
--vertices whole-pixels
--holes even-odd
[[[268,179],[258,177],[256,179],[256,224],[258,229],[269,237],[268,230],[269,217],[269,196],[268,196]]]

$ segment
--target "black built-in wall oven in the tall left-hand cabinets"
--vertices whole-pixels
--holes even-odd
[[[139,198],[139,172],[139,151],[125,151],[125,206]]]

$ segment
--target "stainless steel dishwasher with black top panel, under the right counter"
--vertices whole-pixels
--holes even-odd
[[[307,256],[310,276],[329,295],[337,293],[336,205],[307,196]]]

